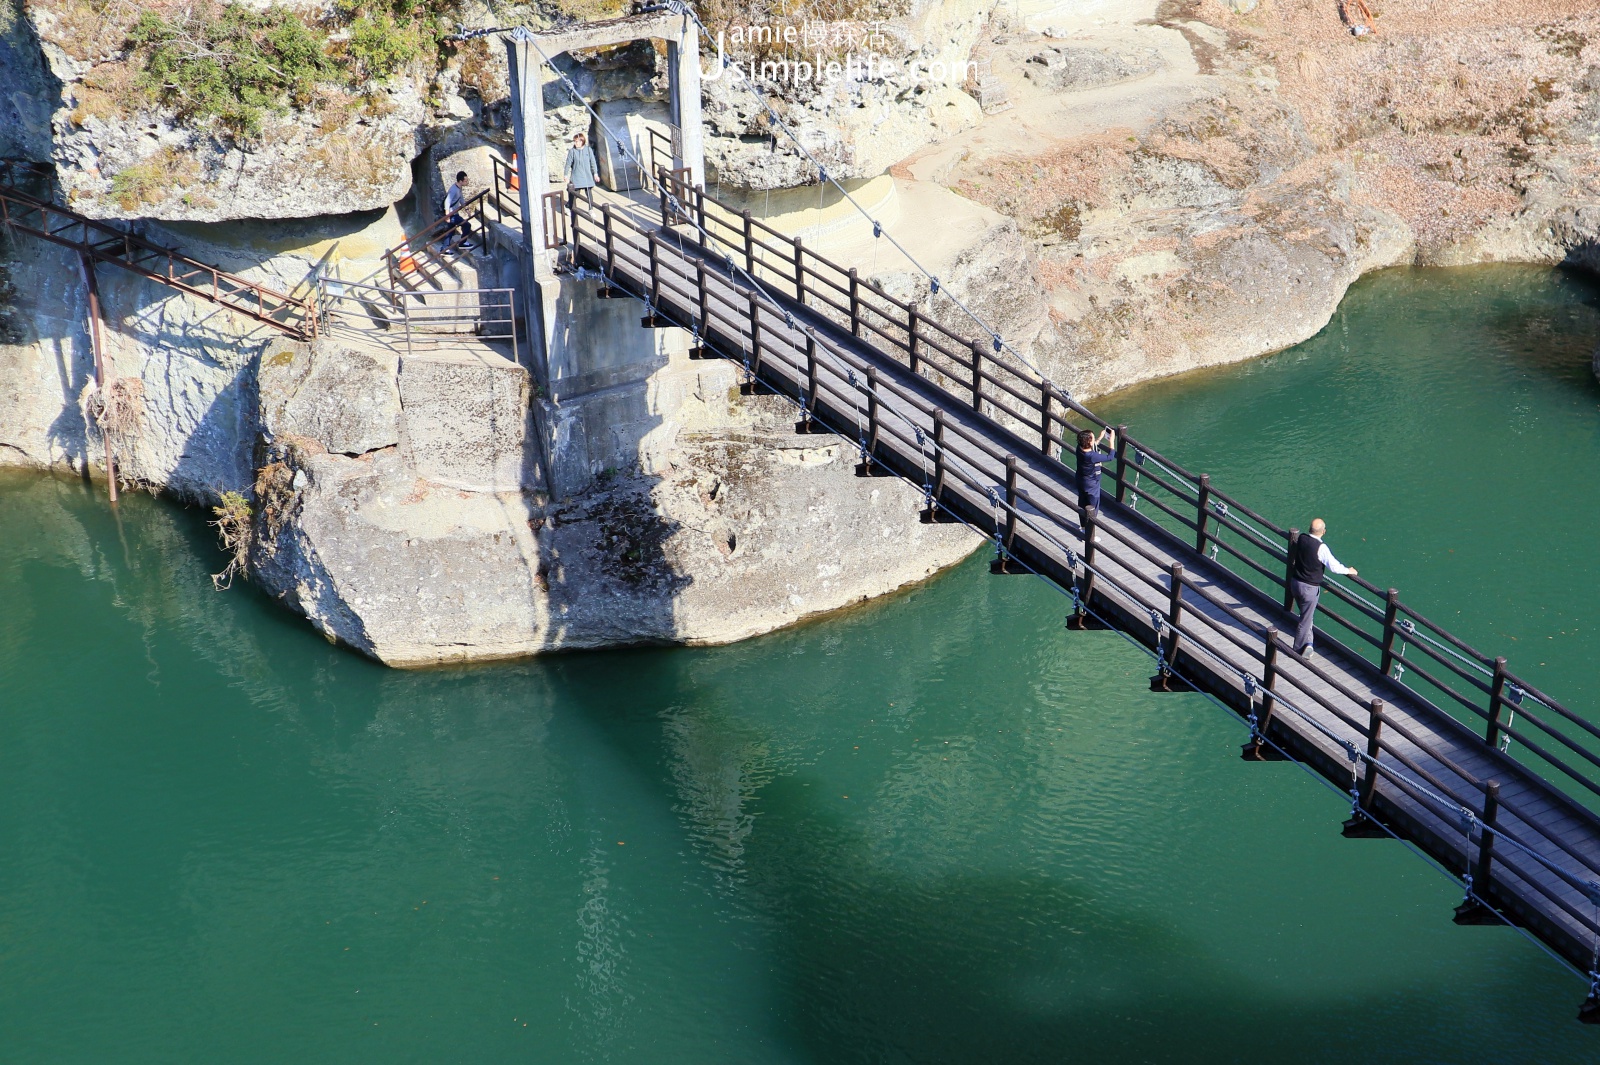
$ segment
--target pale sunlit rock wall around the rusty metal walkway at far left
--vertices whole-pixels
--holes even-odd
[[[363,275],[378,265],[368,256],[378,256],[398,233],[392,211],[270,229],[234,222],[149,230],[162,245],[280,291],[304,291],[317,267]],[[77,256],[26,237],[3,251],[0,462],[104,477],[102,430],[90,416],[104,397],[94,395],[88,299]],[[262,421],[258,361],[280,334],[114,265],[99,265],[96,275],[109,390],[126,414],[112,433],[125,481],[190,502],[248,491]],[[272,350],[282,355],[282,341]],[[267,376],[299,381],[309,369],[291,357],[274,361]],[[318,376],[269,421],[286,424],[285,432],[325,433],[338,449],[394,445],[398,405],[392,365],[386,373],[387,395],[371,373]]]

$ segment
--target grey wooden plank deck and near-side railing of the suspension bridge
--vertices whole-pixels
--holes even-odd
[[[1064,393],[1056,393],[1053,414],[1048,392],[1038,406],[1019,405],[1021,392],[984,376],[976,355],[962,366],[923,352],[918,365],[914,310],[909,344],[883,344],[882,334],[869,342],[858,336],[864,329],[854,288],[848,317],[840,304],[818,301],[805,285],[800,243],[794,241],[794,272],[773,270],[770,259],[758,261],[752,251],[747,216],[742,248],[718,243],[712,251],[704,205],[698,224],[680,219],[675,227],[661,227],[661,216],[648,219],[637,203],[592,209],[570,201],[568,208],[578,265],[645,299],[658,323],[694,331],[707,353],[741,361],[758,385],[798,401],[819,429],[854,438],[864,472],[899,475],[923,488],[936,502],[925,520],[963,520],[995,537],[1008,560],[997,563],[1000,571],[1038,572],[1075,590],[1085,600],[1085,619],[1099,616],[1157,648],[1176,676],[1264,729],[1269,748],[1352,790],[1366,814],[1352,817],[1354,833],[1371,833],[1381,822],[1454,875],[1470,872],[1469,897],[1526,929],[1579,972],[1594,969],[1600,942],[1595,812],[1328,632],[1318,630],[1314,660],[1286,643],[1272,646],[1269,630],[1291,633],[1294,627],[1282,601],[1250,574],[1235,572],[1237,563],[1229,568],[1181,539],[1166,528],[1173,521],[1154,520],[1154,510],[1165,509],[1181,525],[1198,528],[1203,548],[1219,539],[1205,531],[1210,505],[1229,529],[1248,534],[1250,526],[1227,518],[1226,505],[1208,504],[1203,478],[1198,521],[1189,521],[1163,507],[1152,488],[1181,473],[1150,462],[1141,489],[1118,467],[1118,497],[1128,502],[1107,499],[1086,540],[1074,469],[1056,456],[1070,438],[1072,419],[1090,424],[1093,416]],[[850,281],[854,286],[853,273]],[[962,382],[963,374],[970,382]],[[1136,494],[1144,510],[1130,505]],[[1232,547],[1230,553],[1240,555]],[[1328,603],[1342,608],[1338,600]],[[1390,595],[1386,662],[1395,633],[1422,646],[1394,617]],[[1456,672],[1472,680],[1470,670],[1458,665]],[[1494,684],[1491,710],[1499,721],[1507,704],[1502,660]],[[1178,680],[1173,686],[1186,688]],[[1382,723],[1374,728],[1378,704]],[[1494,728],[1491,739],[1499,736]],[[1501,732],[1510,732],[1509,723]],[[1485,801],[1490,782],[1498,784],[1498,809]],[[1482,907],[1470,910],[1462,923],[1496,921]],[[1586,1003],[1586,1014],[1594,1014],[1592,1006],[1594,999]]]

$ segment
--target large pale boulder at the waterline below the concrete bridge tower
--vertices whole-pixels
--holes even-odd
[[[280,355],[262,376],[264,411],[291,409],[298,381],[362,361],[334,345]],[[723,395],[734,381],[731,366],[678,373],[717,374]],[[461,403],[477,389],[453,392]],[[443,432],[448,411],[434,416]],[[605,477],[558,504],[531,480],[442,483],[405,446],[352,457],[285,432],[256,478],[253,569],[330,638],[432,665],[742,640],[920,580],[978,545],[960,526],[922,525],[915,489],[854,477],[845,441],[797,437],[792,419],[776,400],[744,400],[718,430],[680,437],[659,473]]]

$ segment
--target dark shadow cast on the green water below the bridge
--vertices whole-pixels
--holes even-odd
[[[654,665],[678,675],[678,683],[666,683],[667,699],[693,707],[694,686],[706,680],[696,665],[704,664],[661,654]],[[587,688],[576,675],[590,665],[597,662],[565,662],[560,672],[576,683],[563,688],[571,694]],[[579,697],[576,705],[638,782],[677,814],[712,891],[766,929],[758,950],[774,985],[770,1023],[784,1047],[781,1060],[1453,1062],[1462,1060],[1456,1049],[1474,1043],[1488,1054],[1482,1060],[1517,1060],[1512,1047],[1541,1041],[1525,1039],[1530,1022],[1517,1015],[1518,1006],[1501,1014],[1496,1004],[1485,1006],[1480,988],[1450,987],[1448,975],[1397,988],[1386,974],[1382,942],[1365,947],[1370,985],[1330,993],[1325,969],[1312,964],[1320,980],[1314,987],[1264,987],[1259,972],[1238,971],[1186,931],[1206,905],[1202,897],[1179,892],[1163,907],[1122,902],[1078,886],[1083,870],[1070,862],[1051,870],[1048,856],[1026,862],[1035,865],[1027,872],[966,870],[946,860],[939,872],[918,873],[894,854],[894,836],[938,833],[936,819],[907,828],[893,819],[846,816],[842,801],[850,796],[835,795],[837,779],[803,764],[774,768],[773,752],[794,748],[782,729],[752,726],[739,713],[682,705],[632,712],[605,702]],[[848,732],[851,723],[840,720],[837,728]],[[886,784],[856,780],[851,790],[861,788],[858,800],[882,801],[867,793]],[[973,801],[994,803],[995,819],[986,833],[1005,833],[1016,817],[1043,816],[1008,811],[994,780],[982,787],[990,795]],[[1138,817],[1128,832],[1139,832]],[[1251,897],[1270,891],[1274,880],[1282,873],[1242,880],[1237,891]],[[1307,911],[1306,921],[1315,919]],[[1448,921],[1448,913],[1438,919]],[[1362,934],[1350,929],[1355,939]],[[1275,943],[1274,953],[1280,951],[1293,956],[1298,948]],[[1550,977],[1534,951],[1510,955],[1498,974],[1507,987],[1547,985]],[[1557,1047],[1570,1046],[1578,1030],[1571,1022],[1578,990],[1563,988],[1571,1001],[1558,1003],[1565,1027],[1550,1036]],[[1467,1012],[1470,1022],[1456,1028]],[[1502,1035],[1485,1035],[1498,1022]],[[1557,1051],[1542,1060],[1566,1059]]]

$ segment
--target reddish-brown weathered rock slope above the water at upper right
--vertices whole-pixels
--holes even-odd
[[[1046,101],[1024,91],[1018,110],[1059,115],[1067,133],[968,152],[941,174],[1032,240],[1050,304],[1032,353],[1046,373],[1093,395],[1277,350],[1386,265],[1594,269],[1600,19],[1565,0],[1458,8],[1386,13],[1368,38],[1296,5],[1067,18],[1074,42],[1050,54],[1149,42],[1166,67],[1061,83]],[[1163,43],[1173,34],[1189,70]],[[1013,86],[1045,82],[1037,42],[997,42]],[[1118,125],[1070,130],[1072,101]]]

